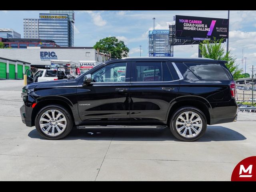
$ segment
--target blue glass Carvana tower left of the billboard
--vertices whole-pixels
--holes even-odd
[[[170,53],[169,30],[148,31],[148,56],[173,56]]]

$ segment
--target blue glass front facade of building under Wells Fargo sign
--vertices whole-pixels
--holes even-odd
[[[69,47],[67,14],[40,13],[38,20],[39,38],[53,40],[59,46]]]

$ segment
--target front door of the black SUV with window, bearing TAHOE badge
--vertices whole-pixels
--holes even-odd
[[[77,89],[78,110],[88,124],[129,123],[129,62],[106,64],[92,74],[88,85],[80,80]]]

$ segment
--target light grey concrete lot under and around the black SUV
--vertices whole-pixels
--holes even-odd
[[[72,130],[45,140],[26,127],[19,108],[22,80],[0,80],[0,180],[226,180],[256,155],[256,114],[208,126],[196,142],[166,129]]]

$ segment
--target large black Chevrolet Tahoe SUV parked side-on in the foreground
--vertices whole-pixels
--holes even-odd
[[[81,128],[168,126],[183,141],[207,124],[236,120],[236,84],[226,61],[138,57],[108,60],[74,79],[32,83],[22,90],[22,122],[47,139]]]

